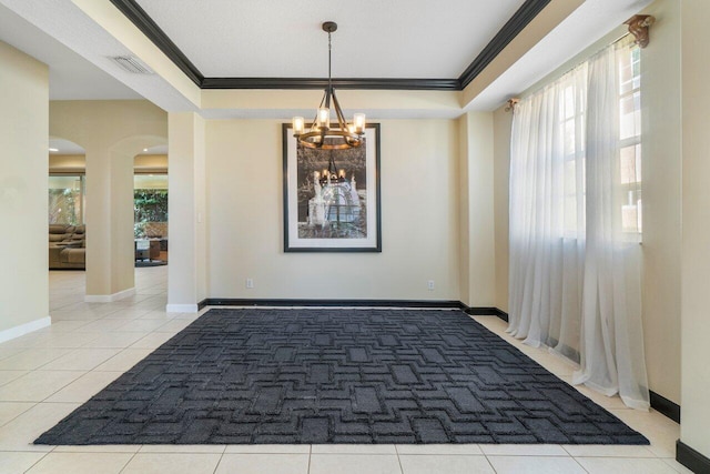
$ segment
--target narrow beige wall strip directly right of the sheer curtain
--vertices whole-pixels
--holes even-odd
[[[650,389],[680,404],[680,2],[660,0],[641,50],[643,345]]]

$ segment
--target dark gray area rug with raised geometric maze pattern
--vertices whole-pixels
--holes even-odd
[[[460,311],[211,310],[36,444],[648,444]]]

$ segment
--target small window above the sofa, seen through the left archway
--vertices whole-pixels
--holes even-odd
[[[85,177],[83,174],[50,175],[49,223],[83,224],[85,189]]]

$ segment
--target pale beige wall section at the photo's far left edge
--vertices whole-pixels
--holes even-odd
[[[0,41],[0,342],[49,324],[49,70]]]

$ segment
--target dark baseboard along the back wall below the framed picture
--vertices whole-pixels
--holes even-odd
[[[460,301],[453,300],[267,300],[242,297],[207,297],[203,306],[382,306],[382,307],[455,307],[464,310]]]

